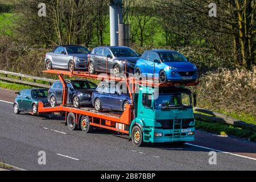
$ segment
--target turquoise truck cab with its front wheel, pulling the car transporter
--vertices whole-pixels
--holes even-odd
[[[134,103],[130,139],[135,146],[195,140],[196,94],[189,89],[141,86],[134,94]]]

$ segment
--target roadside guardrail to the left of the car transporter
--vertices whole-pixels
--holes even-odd
[[[24,85],[38,86],[40,88],[50,88],[52,83],[56,81],[56,80],[52,80],[52,79],[48,79],[48,78],[35,77],[35,76],[30,76],[30,75],[24,75],[21,73],[7,72],[7,71],[2,71],[2,70],[0,70],[0,74],[4,75],[4,76],[0,75],[0,80],[15,82],[15,83],[24,84]],[[8,76],[15,76],[15,77],[18,77],[18,79],[10,78]],[[28,78],[33,81],[22,80],[22,78]],[[48,82],[48,85],[40,84],[36,81]]]

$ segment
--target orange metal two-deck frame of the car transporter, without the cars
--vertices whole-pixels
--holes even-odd
[[[67,122],[67,115],[68,113],[73,113],[76,115],[76,125],[79,125],[80,118],[82,115],[88,116],[90,118],[90,125],[95,127],[101,127],[103,129],[113,130],[117,131],[119,133],[123,134],[129,134],[129,130],[125,130],[125,125],[130,126],[131,122],[134,119],[134,112],[133,108],[134,105],[128,105],[127,109],[123,111],[122,114],[115,114],[115,113],[100,113],[95,110],[92,111],[92,108],[90,109],[77,109],[75,107],[67,106],[67,94],[68,94],[68,87],[65,83],[63,75],[69,76],[69,77],[82,77],[82,78],[94,78],[98,79],[99,75],[92,75],[89,72],[81,72],[81,71],[62,71],[62,70],[48,70],[43,71],[44,73],[54,73],[59,76],[59,79],[61,83],[63,84],[63,100],[62,104],[56,107],[44,107],[42,102],[39,102],[38,106],[38,113],[61,113],[65,112],[65,121]],[[135,90],[135,84],[139,85],[147,85],[147,86],[159,86],[159,87],[169,87],[169,86],[196,86],[199,84],[199,82],[181,82],[181,83],[174,83],[174,82],[167,82],[167,83],[158,83],[155,81],[155,78],[153,78],[153,81],[143,81],[138,80],[135,77],[113,77],[111,75],[106,74],[101,75],[101,80],[109,79],[115,82],[126,82],[127,88],[129,89],[129,94],[131,97],[131,100],[133,100],[133,93]],[[130,85],[133,84],[133,90],[130,89]],[[97,121],[97,122],[96,122]],[[123,127],[122,129],[119,129],[116,124],[121,124]]]

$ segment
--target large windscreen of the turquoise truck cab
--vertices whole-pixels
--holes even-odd
[[[155,100],[155,109],[171,109],[174,107],[192,107],[191,94],[159,94],[159,97]]]

